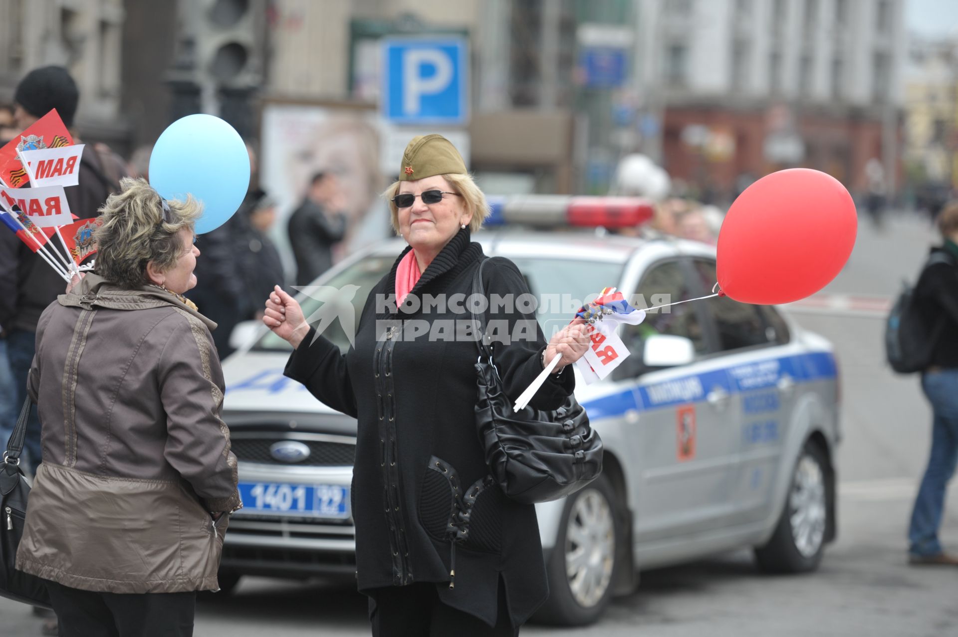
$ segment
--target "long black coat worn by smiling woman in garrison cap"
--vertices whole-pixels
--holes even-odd
[[[410,297],[468,297],[483,258],[482,247],[469,241],[468,229],[461,230],[422,273]],[[354,347],[342,355],[323,337],[310,345],[315,334],[310,330],[291,354],[285,374],[358,421],[352,496],[359,590],[375,600],[377,588],[436,582],[444,603],[493,625],[501,577],[508,611],[518,626],[548,597],[536,508],[513,502],[494,483],[484,482],[489,469],[473,412],[475,342],[430,341],[425,335],[413,339],[410,324],[399,334],[383,335],[398,319],[436,326],[438,320],[470,318],[449,307],[454,300],[441,308],[445,311],[430,307],[429,313],[402,311],[410,307],[409,299],[399,313],[377,304],[379,295],[395,292],[399,259],[373,288]],[[491,259],[483,279],[487,295],[529,291],[507,259]],[[489,319],[507,321],[511,334],[528,330],[532,335],[533,340],[508,347],[492,344],[506,392],[517,398],[542,371],[542,331],[535,312],[500,307],[490,311]],[[574,387],[572,372],[563,370],[543,385],[532,405],[555,409]],[[453,550],[446,531],[455,512],[454,494],[467,495],[470,488],[481,492],[469,516],[468,539]],[[453,556],[455,587],[450,588]]]

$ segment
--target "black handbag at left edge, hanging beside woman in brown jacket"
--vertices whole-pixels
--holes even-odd
[[[30,495],[30,485],[20,469],[20,452],[27,435],[31,404],[30,398],[23,403],[0,466],[0,597],[52,608],[44,581],[14,568]]]

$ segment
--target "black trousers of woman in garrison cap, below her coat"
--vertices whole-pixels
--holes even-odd
[[[516,637],[509,619],[506,591],[499,582],[499,612],[490,627],[478,617],[440,602],[436,584],[377,588],[370,601],[373,637]]]

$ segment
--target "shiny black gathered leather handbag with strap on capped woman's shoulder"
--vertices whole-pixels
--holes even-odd
[[[479,264],[472,293],[485,296]],[[503,492],[523,504],[548,502],[575,493],[602,472],[603,444],[575,396],[555,411],[526,406],[513,411],[503,390],[485,335],[485,321],[472,314],[477,329],[476,430],[486,464]]]

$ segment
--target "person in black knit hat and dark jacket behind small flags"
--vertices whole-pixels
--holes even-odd
[[[17,130],[33,125],[56,108],[63,124],[71,128],[74,141],[80,143],[76,131],[72,130],[80,92],[63,67],[34,69],[17,84],[13,100]],[[80,157],[79,180],[78,186],[65,190],[70,212],[80,218],[97,216],[98,209],[118,184],[107,175],[101,153],[92,145],[87,145]],[[6,231],[0,233],[0,272],[5,273],[0,277],[0,326],[7,332],[7,350],[17,390],[13,408],[19,411],[27,396],[27,374],[34,359],[36,322],[40,313],[63,293],[65,284],[52,267],[16,235]],[[35,408],[27,423],[25,448],[35,469],[41,457],[40,424],[36,420]]]

